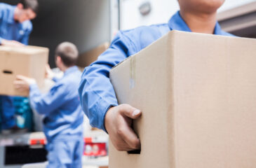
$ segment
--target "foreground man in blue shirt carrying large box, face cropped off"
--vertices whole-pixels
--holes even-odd
[[[180,11],[167,24],[119,31],[109,49],[83,71],[79,96],[90,125],[109,133],[119,151],[140,148],[140,139],[131,128],[141,111],[128,104],[118,104],[109,80],[109,70],[130,55],[140,52],[170,30],[193,31],[231,36],[217,23],[217,9],[224,0],[178,0]]]

